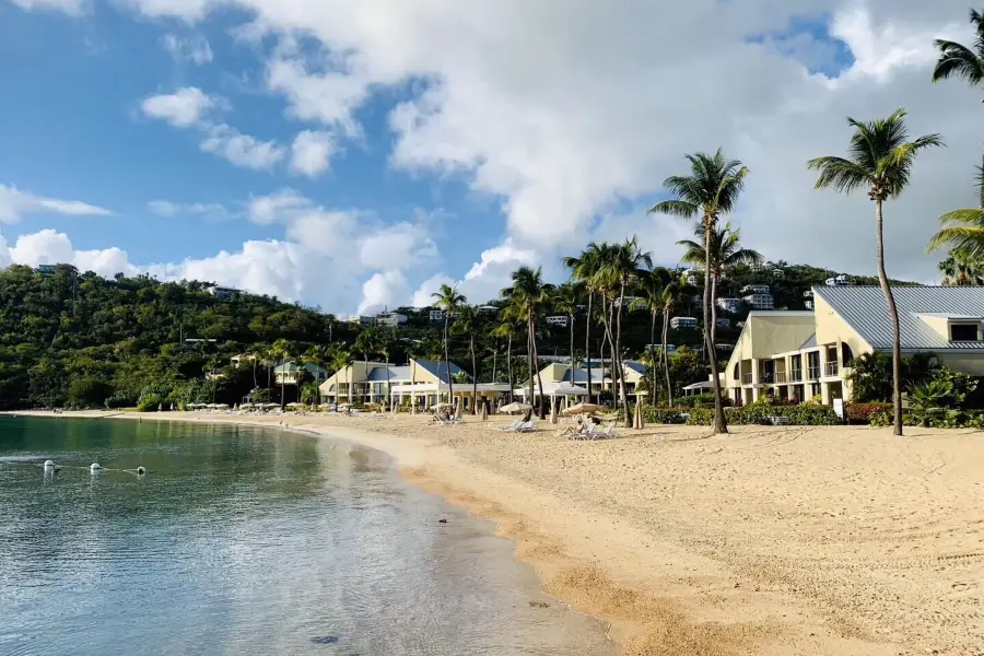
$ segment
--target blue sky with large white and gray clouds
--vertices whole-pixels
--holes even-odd
[[[661,265],[646,209],[683,155],[750,169],[730,216],[768,259],[870,274],[874,206],[815,191],[846,117],[909,110],[893,278],[937,280],[974,207],[984,90],[930,82],[967,0],[0,0],[0,267],[197,279],[342,316],[483,303],[589,241]]]

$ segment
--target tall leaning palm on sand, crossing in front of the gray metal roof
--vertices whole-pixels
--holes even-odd
[[[885,292],[889,317],[892,320],[892,385],[894,389],[895,435],[902,434],[902,353],[899,338],[899,311],[885,272],[885,241],[882,237],[882,206],[897,198],[909,185],[916,155],[927,148],[942,145],[939,134],[925,134],[909,141],[905,110],[899,109],[885,119],[860,122],[847,118],[854,128],[848,156],[825,156],[810,160],[807,167],[819,171],[817,189],[834,189],[851,194],[867,189],[875,201],[875,243],[878,280]]]

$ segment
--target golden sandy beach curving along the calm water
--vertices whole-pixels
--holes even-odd
[[[140,417],[282,426],[385,450],[415,483],[497,522],[547,591],[609,620],[628,655],[984,648],[981,432],[737,426],[710,437],[649,426],[572,442],[543,422],[502,433],[499,418]]]

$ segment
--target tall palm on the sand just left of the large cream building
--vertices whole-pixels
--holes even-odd
[[[663,183],[676,197],[657,202],[649,213],[671,214],[683,219],[698,219],[704,234],[704,342],[711,353],[711,388],[714,390],[713,433],[727,433],[724,405],[721,401],[721,382],[717,379],[717,358],[711,331],[711,235],[723,214],[730,212],[745,189],[748,167],[738,160],[728,160],[718,149],[713,155],[696,153],[686,155],[690,162],[690,175],[673,175]]]

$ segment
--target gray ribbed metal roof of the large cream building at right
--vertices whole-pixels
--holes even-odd
[[[815,286],[823,298],[874,349],[892,348],[892,323],[879,286]],[[919,315],[984,316],[984,286],[894,286],[902,349],[946,351],[984,349],[984,341],[951,342]]]

